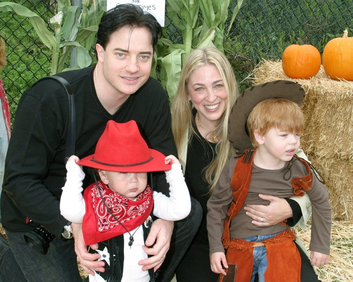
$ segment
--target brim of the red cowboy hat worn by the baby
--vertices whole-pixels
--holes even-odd
[[[94,154],[82,158],[77,164],[96,168],[98,170],[116,171],[116,172],[154,172],[154,171],[167,171],[172,168],[170,164],[164,164],[166,157],[161,152],[154,149],[149,149],[151,159],[146,160],[143,164],[102,164],[94,161]]]

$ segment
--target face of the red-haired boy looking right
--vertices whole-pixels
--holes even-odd
[[[290,161],[300,147],[300,134],[271,128],[262,136],[263,149],[269,158]]]

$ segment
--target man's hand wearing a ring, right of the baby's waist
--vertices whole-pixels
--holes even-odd
[[[169,220],[157,219],[152,223],[150,234],[145,242],[146,246],[142,246],[142,248],[147,255],[153,257],[138,262],[139,265],[143,265],[143,271],[153,268],[156,272],[160,268],[169,250],[172,232],[172,222]],[[150,246],[152,247],[149,248]]]

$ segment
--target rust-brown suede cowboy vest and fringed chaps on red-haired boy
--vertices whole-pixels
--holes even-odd
[[[248,242],[242,239],[230,238],[230,222],[237,215],[241,207],[243,207],[249,190],[255,152],[256,149],[246,150],[234,167],[231,181],[233,201],[229,205],[222,236],[223,245],[227,249],[226,258],[229,268],[227,275],[223,276],[221,274],[218,281],[250,281],[253,266],[253,248],[265,245],[268,261],[267,270],[265,271],[265,281],[281,282],[285,280],[300,282],[301,261],[299,251],[294,243],[294,232],[287,229],[263,242]],[[297,156],[295,157],[298,158]],[[292,179],[294,196],[303,196],[304,191],[310,190],[312,184],[310,167],[305,160],[300,160],[307,167],[308,174],[304,177]]]

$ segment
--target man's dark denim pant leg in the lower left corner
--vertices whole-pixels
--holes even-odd
[[[77,256],[74,251],[73,240],[62,241],[54,238],[50,243],[48,253],[42,255],[25,242],[23,232],[6,231],[6,235],[12,254],[26,279],[24,281],[82,282],[77,268]],[[7,260],[6,257],[2,257],[1,260],[1,269],[10,269],[12,267],[10,265],[11,260]],[[21,277],[23,279],[23,276]],[[12,277],[9,281],[17,280],[14,280]]]

